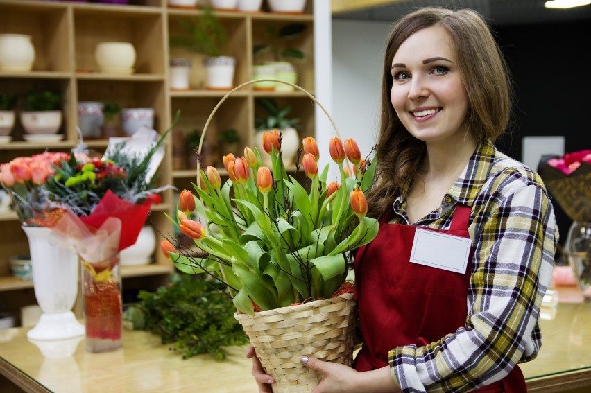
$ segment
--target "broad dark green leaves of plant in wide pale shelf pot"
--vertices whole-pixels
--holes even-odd
[[[277,26],[268,26],[265,30],[266,36],[269,40],[268,44],[257,44],[252,47],[252,53],[257,55],[264,51],[270,50],[273,53],[273,60],[276,62],[280,61],[281,58],[289,60],[305,60],[305,53],[298,48],[293,47],[282,47],[283,42],[293,40],[299,37],[304,30],[306,25],[302,23],[292,23],[282,28]]]

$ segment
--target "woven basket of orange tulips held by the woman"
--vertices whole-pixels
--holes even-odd
[[[206,129],[207,123],[203,134]],[[302,367],[301,356],[352,361],[355,304],[347,254],[377,235],[363,194],[372,185],[375,158],[361,159],[352,139],[344,146],[331,139],[341,181],[329,182],[329,165],[318,171],[316,141],[305,138],[301,161],[308,180],[302,185],[286,173],[281,134],[275,130],[263,138],[271,168],[262,166],[257,149],[226,155],[228,180],[222,184],[211,166],[200,171],[197,195],[183,191],[176,217],[169,217],[205,255],[175,250],[168,241],[162,248],[182,272],[225,283],[235,317],[277,381],[275,392],[308,392],[320,375]],[[188,218],[192,211],[200,220]]]

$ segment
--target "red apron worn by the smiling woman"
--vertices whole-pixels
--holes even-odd
[[[357,371],[388,365],[388,351],[436,342],[465,326],[471,263],[465,274],[410,262],[416,227],[388,224],[355,257],[355,297],[363,347],[355,358]],[[470,207],[457,205],[449,230],[432,229],[470,238]],[[473,250],[470,250],[472,261]],[[517,365],[504,380],[477,392],[527,392]]]

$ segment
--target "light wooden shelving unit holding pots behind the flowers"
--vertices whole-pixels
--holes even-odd
[[[138,5],[107,5],[69,1],[3,0],[0,2],[0,33],[19,33],[33,37],[35,62],[33,71],[26,73],[0,72],[0,91],[17,93],[20,98],[32,88],[52,89],[64,96],[64,120],[59,130],[62,141],[33,143],[24,141],[22,125],[17,120],[12,131],[12,141],[0,144],[0,163],[15,157],[32,155],[45,149],[69,150],[77,143],[77,107],[81,101],[117,101],[122,107],[153,107],[155,129],[162,133],[169,127],[173,115],[181,111],[175,130],[189,132],[202,130],[209,113],[226,91],[208,91],[205,81],[203,58],[180,49],[169,48],[169,36],[178,31],[179,22],[198,17],[200,10],[169,8],[166,0],[134,1]],[[307,53],[307,60],[297,64],[298,85],[314,94],[314,15],[313,1],[309,0],[302,15],[279,15],[261,12],[214,11],[227,28],[230,43],[224,55],[237,58],[234,85],[250,80],[252,67],[259,59],[252,56],[252,46],[264,40],[264,30],[294,21],[307,25],[305,34],[292,45]],[[98,72],[94,62],[94,48],[103,41],[132,42],[137,52],[135,73],[117,75]],[[193,75],[189,91],[169,89],[169,60],[172,57],[189,57],[193,60]],[[239,148],[253,146],[254,119],[258,114],[255,98],[269,96],[278,102],[293,106],[293,116],[302,120],[300,137],[314,135],[314,107],[309,98],[299,91],[260,92],[248,86],[228,99],[216,113],[207,134],[215,136],[218,130],[234,128],[241,136]],[[21,101],[22,102],[22,101]],[[21,107],[17,107],[17,118]],[[212,138],[215,139],[215,138]],[[104,150],[106,140],[86,141],[89,148]],[[179,146],[176,146],[177,148]],[[166,155],[159,169],[161,185],[173,184],[178,189],[191,186],[196,171],[189,168],[173,168],[173,138],[166,141]],[[222,151],[216,152],[220,157]],[[223,171],[223,168],[222,168]],[[221,171],[221,172],[222,172]],[[175,193],[166,191],[162,204],[153,208],[148,222],[155,226],[158,242],[170,236],[172,226],[163,212],[171,213],[175,206]],[[10,274],[9,258],[28,254],[28,241],[20,228],[15,213],[0,212],[0,309],[13,313],[19,307],[35,303],[33,284],[19,281]],[[165,282],[172,272],[171,263],[159,249],[150,265],[123,269],[123,288],[153,290]],[[12,299],[19,300],[14,302]]]

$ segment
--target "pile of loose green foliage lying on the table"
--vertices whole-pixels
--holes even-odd
[[[162,344],[172,344],[183,358],[209,353],[223,360],[221,347],[248,342],[224,289],[201,275],[173,274],[170,286],[139,292],[142,301],[130,306],[124,317],[134,329],[160,335]]]

